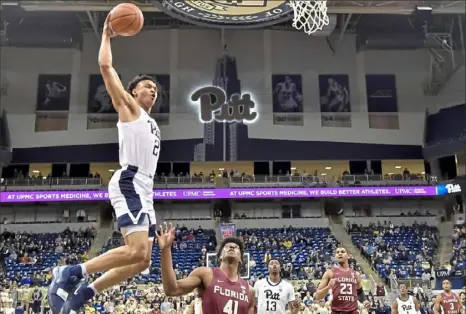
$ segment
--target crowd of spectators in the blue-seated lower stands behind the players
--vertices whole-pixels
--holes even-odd
[[[202,228],[188,230],[186,227],[178,227],[177,241],[173,244],[174,251],[187,250],[189,248],[185,246],[186,243],[191,243],[190,247],[198,250],[197,262],[192,267],[206,265],[206,254],[215,251],[215,236]],[[465,264],[465,230],[465,226],[456,226],[452,235],[455,252],[451,264],[455,269],[464,267]],[[435,232],[432,232],[435,231],[434,228],[418,224],[395,227],[390,222],[378,222],[368,227],[350,226],[348,231],[353,235],[353,239],[364,256],[376,268],[379,263],[383,265],[380,267],[381,275],[395,273],[400,278],[410,278],[419,277],[419,274],[421,276],[425,273],[430,274],[432,259],[429,256],[433,255],[437,246]],[[414,245],[419,250],[405,247],[401,240],[397,242],[398,245],[393,242],[394,235],[398,235],[396,239],[399,237],[403,239],[407,234],[412,233],[418,235],[419,242],[413,244],[411,241],[410,245]],[[114,235],[104,246],[102,252],[122,244],[121,237]],[[319,279],[322,278],[323,272],[332,265],[331,252],[338,245],[328,229],[299,229],[292,226],[279,229],[243,229],[239,230],[239,235],[252,256],[250,259],[251,277],[249,278],[251,285],[267,275],[263,269],[272,257],[272,253],[274,257],[283,255],[283,276],[292,282],[296,296],[301,300],[300,313],[328,314],[331,312],[329,307],[331,296],[326,301],[314,302],[313,300]],[[362,237],[358,238],[357,235]],[[51,278],[51,268],[56,265],[85,261],[87,250],[94,237],[95,230],[93,229],[79,231],[66,229],[61,234],[3,232],[0,236],[3,264],[3,270],[0,273],[1,313],[51,313],[45,290]],[[201,241],[200,239],[202,243],[208,241],[208,244],[196,245],[197,241]],[[309,247],[312,250],[307,251],[306,248]],[[293,251],[294,249],[296,251]],[[158,254],[157,248],[154,251]],[[393,268],[395,264],[400,267]],[[354,258],[350,259],[350,265],[362,272]],[[406,271],[403,270],[403,265],[406,266]],[[419,269],[423,271],[419,273]],[[143,281],[138,276],[130,281],[122,282],[91,300],[82,313],[192,313],[193,301],[197,297],[195,293],[182,297],[167,297],[160,285],[160,268],[157,263],[154,263],[150,274],[154,275],[151,278],[156,279]],[[183,278],[188,274],[187,270],[177,272],[178,278]],[[379,285],[384,287],[384,283]],[[382,295],[379,291],[383,291]],[[385,288],[370,291],[368,299],[371,302],[371,309],[367,311],[361,308],[360,313],[390,314],[391,308],[384,297],[385,291]],[[416,286],[412,293],[421,302],[421,313],[432,314],[432,295],[420,286]],[[464,293],[461,297],[465,302]]]

